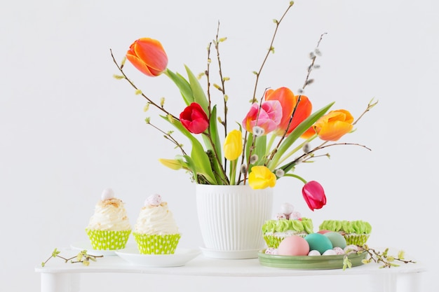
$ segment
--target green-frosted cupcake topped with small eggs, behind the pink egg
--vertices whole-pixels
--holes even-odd
[[[298,235],[305,237],[313,233],[313,221],[310,218],[304,218],[290,203],[281,205],[281,213],[276,215],[262,225],[264,240],[269,248],[277,249],[278,245],[285,237]]]

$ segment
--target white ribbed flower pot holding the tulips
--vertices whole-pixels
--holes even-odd
[[[203,254],[210,258],[257,258],[265,248],[262,225],[271,218],[273,188],[196,185]]]

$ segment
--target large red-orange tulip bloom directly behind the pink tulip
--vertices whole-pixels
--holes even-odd
[[[294,95],[290,89],[283,87],[276,90],[267,90],[265,93],[265,100],[278,100],[281,102],[282,119],[278,126],[278,130],[276,130],[276,134],[281,136],[287,129],[288,123],[290,123],[292,111],[294,111],[297,101],[299,100],[299,95]],[[290,127],[288,127],[287,134],[290,134],[292,130],[295,130],[297,125],[308,118],[309,115],[311,115],[311,111],[312,104],[308,97],[301,95],[299,105],[297,106],[295,114],[291,120]]]

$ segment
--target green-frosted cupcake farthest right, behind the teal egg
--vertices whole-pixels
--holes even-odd
[[[365,221],[325,220],[318,227],[319,230],[339,232],[346,239],[346,244],[363,245],[372,232],[372,226]]]

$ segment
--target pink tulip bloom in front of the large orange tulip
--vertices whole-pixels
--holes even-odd
[[[258,116],[259,111],[259,116]],[[243,127],[248,132],[252,132],[253,127],[258,126],[264,129],[264,134],[276,130],[282,119],[282,106],[277,100],[262,102],[259,110],[259,104],[252,104],[250,111],[243,120]],[[256,123],[257,122],[257,123]]]

